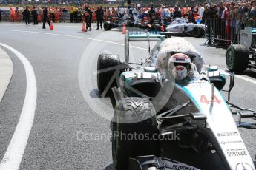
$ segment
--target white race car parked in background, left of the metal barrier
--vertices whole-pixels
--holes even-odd
[[[206,26],[204,24],[188,23],[186,18],[175,18],[166,27],[166,32],[177,33],[178,35],[192,35],[195,38],[202,38],[205,33]]]

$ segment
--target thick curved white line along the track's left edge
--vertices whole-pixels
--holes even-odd
[[[19,165],[22,162],[22,157],[24,154],[24,149],[27,145],[28,137],[30,135],[30,130],[33,126],[33,119],[36,111],[36,76],[30,62],[24,57],[24,55],[22,55],[22,53],[6,44],[0,43],[0,46],[13,52],[19,58],[19,60],[22,61],[27,78],[26,95],[24,98],[22,113],[19,117],[19,122],[16,126],[13,137],[10,140],[7,151],[0,162],[1,170],[18,170]]]

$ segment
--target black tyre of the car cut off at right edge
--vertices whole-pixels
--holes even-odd
[[[226,50],[226,66],[232,72],[243,72],[248,68],[249,52],[240,44],[233,44]]]

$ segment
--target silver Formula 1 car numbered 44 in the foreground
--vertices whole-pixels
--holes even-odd
[[[165,34],[165,35],[164,35]],[[206,67],[205,75],[174,82],[160,76],[157,55],[163,47],[167,33],[162,35],[126,33],[125,62],[118,55],[101,54],[98,58],[98,88],[102,95],[114,94],[116,106],[111,123],[112,157],[116,169],[199,169],[165,157],[170,146],[168,138],[180,134],[178,146],[196,152],[217,152],[226,169],[255,170],[252,158],[243,143],[232,117],[231,107],[237,115],[255,117],[255,112],[241,109],[226,101],[220,94],[229,76],[230,94],[234,74],[220,73],[217,67]],[[170,35],[168,35],[170,36]],[[182,44],[183,38],[171,38],[171,54],[182,52],[193,61],[196,50]],[[129,63],[130,41],[153,41],[157,44],[140,64]],[[138,67],[139,66],[139,67]],[[117,79],[117,81],[115,81]],[[156,137],[157,136],[157,137]],[[166,137],[163,146],[160,137]],[[157,138],[157,139],[156,139]],[[165,138],[165,139],[166,139]],[[209,167],[208,167],[209,168]]]

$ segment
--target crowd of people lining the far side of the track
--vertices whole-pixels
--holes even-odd
[[[10,7],[10,21],[23,20],[26,24],[30,24],[30,18],[33,24],[42,22],[45,18],[43,13],[45,7]],[[69,12],[69,13],[68,13]],[[1,13],[0,10],[0,21]],[[192,6],[164,6],[154,7],[154,4],[148,4],[141,7],[140,4],[135,4],[130,7],[90,7],[89,4],[81,6],[70,7],[47,7],[47,18],[53,22],[64,22],[63,15],[67,13],[70,15],[70,22],[85,21],[89,30],[91,30],[91,23],[97,22],[97,29],[102,28],[102,21],[109,21],[110,16],[122,17],[125,14],[134,18],[137,23],[140,19],[147,17],[148,21],[153,24],[154,21],[160,20],[161,24],[165,24],[173,18],[186,17],[192,23],[202,23],[209,26],[208,28],[214,30],[214,37],[222,36],[222,38],[232,38],[235,40],[237,31],[242,29],[245,25],[254,27],[256,25],[256,3],[255,1],[237,1],[237,2],[223,2],[218,4],[196,4]],[[228,34],[228,35],[227,35]]]

